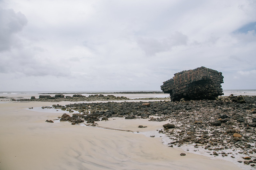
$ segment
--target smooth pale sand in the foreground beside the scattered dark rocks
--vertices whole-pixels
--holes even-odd
[[[232,162],[193,153],[180,156],[182,151],[162,144],[161,137],[142,133],[161,129],[166,122],[124,118],[97,122],[127,132],[48,123],[45,120],[54,120],[63,111],[28,109],[69,103],[2,101],[0,169],[240,169]]]

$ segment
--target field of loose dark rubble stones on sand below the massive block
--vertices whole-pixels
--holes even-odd
[[[170,139],[169,147],[191,145],[205,149],[210,155],[236,158],[250,167],[256,163],[256,96],[230,95],[219,100],[175,102],[76,103],[52,107],[69,111],[70,115],[63,114],[59,118],[73,125],[86,122],[95,126],[97,121],[107,121],[110,117],[169,121],[162,129],[156,129]],[[74,110],[79,113],[72,114]],[[238,154],[243,155],[244,161],[237,158]]]

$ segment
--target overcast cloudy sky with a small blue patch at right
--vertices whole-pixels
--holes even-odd
[[[256,89],[255,0],[0,0],[0,91],[161,90],[201,66]]]

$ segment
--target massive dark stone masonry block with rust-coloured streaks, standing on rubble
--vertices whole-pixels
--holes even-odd
[[[223,95],[221,83],[222,73],[206,67],[185,70],[174,74],[174,77],[163,82],[161,90],[169,93],[171,100],[215,100]]]

